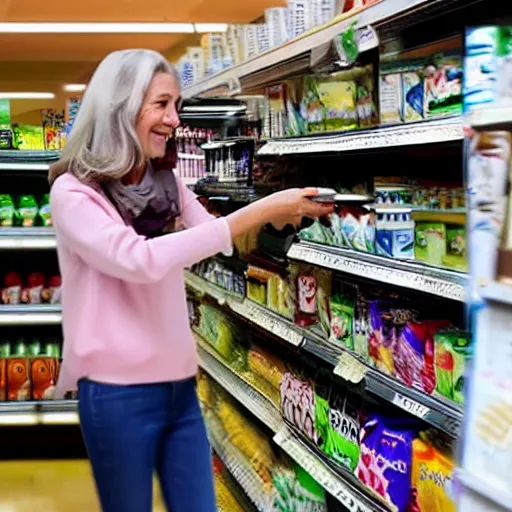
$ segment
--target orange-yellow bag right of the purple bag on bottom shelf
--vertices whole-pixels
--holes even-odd
[[[451,459],[421,439],[413,442],[412,486],[417,505],[428,512],[455,512],[448,496],[455,465]]]

